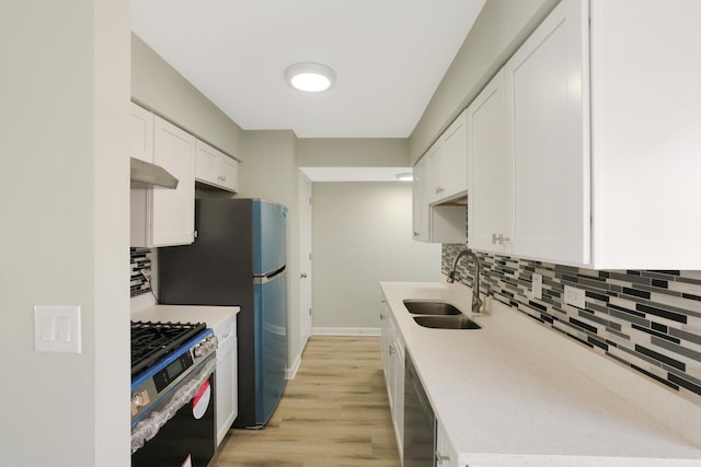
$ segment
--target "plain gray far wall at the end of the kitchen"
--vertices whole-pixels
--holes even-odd
[[[440,279],[440,245],[411,236],[411,184],[315,183],[312,210],[313,332],[379,329],[379,281]]]

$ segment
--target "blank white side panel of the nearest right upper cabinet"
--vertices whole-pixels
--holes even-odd
[[[701,1],[591,1],[593,262],[701,269]]]

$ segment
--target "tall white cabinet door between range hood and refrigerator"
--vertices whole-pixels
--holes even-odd
[[[152,189],[153,246],[193,243],[195,236],[195,137],[154,117],[153,162],[177,178],[176,189]]]

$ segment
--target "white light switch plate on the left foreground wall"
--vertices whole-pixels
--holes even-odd
[[[34,350],[80,353],[80,306],[35,305]]]

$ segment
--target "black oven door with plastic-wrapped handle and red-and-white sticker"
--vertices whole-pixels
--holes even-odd
[[[206,467],[214,457],[216,372],[211,370],[204,376],[194,373],[199,378],[193,375],[184,380],[171,397],[165,397],[145,417],[140,429],[149,433],[143,435],[143,446],[131,454],[131,467]],[[153,431],[156,435],[150,437]],[[134,444],[134,429],[131,439]]]

